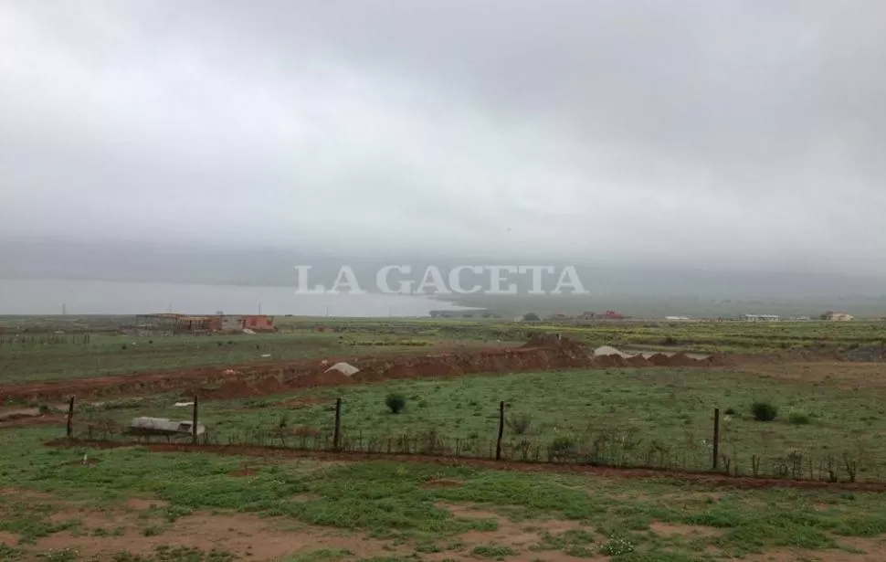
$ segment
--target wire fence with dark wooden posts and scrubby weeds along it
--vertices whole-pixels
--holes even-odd
[[[818,482],[886,482],[882,468],[867,465],[861,451],[786,451],[754,454],[723,447],[719,409],[712,411],[711,440],[645,438],[638,429],[605,428],[582,435],[533,434],[520,416],[506,417],[499,404],[494,435],[454,436],[438,429],[379,434],[343,429],[343,400],[338,398],[332,430],[291,427],[285,412],[276,423],[250,429],[216,430],[199,422],[199,400],[194,398],[191,420],[174,430],[139,431],[100,416],[75,420],[75,400],[70,398],[66,434],[71,439],[138,443],[186,442],[231,447],[277,447],[299,451],[339,451],[374,455],[422,455],[501,462],[576,464],[621,469],[670,472],[711,472],[744,478],[776,478]]]

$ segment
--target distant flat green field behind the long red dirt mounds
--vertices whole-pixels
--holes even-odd
[[[108,317],[48,317],[43,330],[70,325],[104,330]],[[54,319],[58,320],[57,324]],[[0,325],[25,325],[0,317]],[[64,322],[64,323],[62,323]],[[589,346],[702,353],[824,353],[886,343],[886,323],[502,323],[495,320],[280,318],[280,334],[132,338],[101,333],[0,334],[0,384],[55,378],[126,375],[197,366],[237,365],[330,355],[407,351],[420,345],[513,345],[533,332],[562,333]],[[324,328],[326,332],[319,332]],[[46,343],[47,337],[61,343]],[[54,341],[55,341],[54,340]],[[24,342],[24,343],[22,343]],[[75,343],[76,342],[76,343]]]

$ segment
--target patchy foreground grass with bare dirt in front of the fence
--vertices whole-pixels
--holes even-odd
[[[265,525],[296,525],[289,527],[293,536],[317,533],[316,546],[277,558],[290,561],[612,556],[680,562],[787,548],[802,549],[790,559],[812,560],[830,549],[843,560],[866,549],[877,552],[872,537],[886,532],[886,507],[872,493],[713,490],[660,480],[378,461],[244,461],[139,448],[86,451],[92,463],[82,466],[82,450],[38,446],[50,433],[0,433],[8,451],[0,457],[0,486],[8,492],[0,496],[0,533],[16,539],[0,546],[4,560],[86,560],[103,541],[119,550],[91,559],[257,559],[225,550],[220,539],[215,552],[182,546],[177,529],[198,514],[258,516]],[[244,466],[248,476],[236,476]],[[41,500],[29,493],[41,493]],[[93,513],[126,509],[132,498],[143,500],[135,516],[96,523]],[[475,508],[482,511],[471,512]],[[338,529],[341,541],[359,537],[357,544],[378,545],[380,552],[360,557],[323,548],[321,528]],[[54,536],[69,537],[66,552],[45,550],[58,544]],[[148,546],[160,554],[131,550]],[[178,555],[169,555],[175,548]]]

